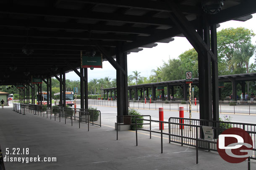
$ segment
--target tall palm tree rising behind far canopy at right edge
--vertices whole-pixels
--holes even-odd
[[[234,52],[234,55],[231,59],[231,64],[235,64],[235,69],[240,66],[246,66],[246,73],[249,73],[249,60],[253,56],[256,46],[253,46],[251,43],[241,44],[240,50]],[[249,94],[249,82],[247,82],[247,90]]]

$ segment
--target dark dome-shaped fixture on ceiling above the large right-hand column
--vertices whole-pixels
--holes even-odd
[[[202,8],[206,13],[217,14],[222,7],[223,0],[202,0]]]

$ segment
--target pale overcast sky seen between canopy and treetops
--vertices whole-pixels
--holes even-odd
[[[253,30],[256,33],[256,14],[253,14],[253,18],[245,22],[241,21],[227,21],[220,23],[220,27],[217,31],[225,28],[238,28],[244,27]],[[140,76],[149,77],[152,73],[152,69],[157,69],[170,59],[178,58],[183,52],[193,48],[185,37],[174,37],[174,41],[170,43],[157,43],[158,45],[153,48],[143,48],[138,53],[131,53],[127,56],[128,75],[133,74],[133,71],[141,72]],[[252,38],[252,43],[256,45],[256,36]],[[250,62],[253,62],[251,58]],[[116,78],[116,70],[108,62],[103,61],[102,69],[95,68],[93,70],[88,69],[88,81],[92,79],[101,79],[109,77],[111,80]],[[66,79],[80,80],[79,76],[74,71],[66,74]]]

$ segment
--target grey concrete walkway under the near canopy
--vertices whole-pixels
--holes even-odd
[[[102,111],[102,118],[107,116]],[[105,120],[102,121],[104,122]],[[105,123],[107,124],[107,123]],[[114,124],[113,124],[114,125]],[[154,135],[154,134],[153,134]],[[165,136],[167,138],[167,136]],[[29,155],[10,157],[56,157],[57,162],[5,162],[7,170],[245,170],[247,162],[230,164],[215,152],[199,150],[199,164],[193,147],[169,144],[164,139],[161,154],[160,138],[146,132],[138,134],[138,146],[133,131],[122,131],[116,140],[112,126],[90,126],[78,123],[71,126],[65,119],[48,119],[26,113],[18,114],[12,107],[0,109],[0,145],[3,155],[6,148],[29,148]],[[26,149],[25,149],[26,150]],[[17,153],[17,151],[15,152]],[[251,170],[256,162],[251,162]]]

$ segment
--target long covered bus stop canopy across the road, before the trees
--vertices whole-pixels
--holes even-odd
[[[231,82],[232,83],[232,95],[237,96],[237,85],[240,84],[242,87],[242,92],[245,94],[246,92],[246,81],[256,81],[256,73],[245,73],[245,74],[231,74],[231,75],[224,75],[219,76],[219,82]],[[199,79],[194,78],[192,85],[199,86]],[[129,91],[129,99],[132,100],[132,91],[134,91],[134,99],[137,100],[138,96],[144,100],[144,91],[145,95],[149,98],[149,89],[151,90],[152,100],[154,101],[156,98],[156,90],[157,87],[167,87],[167,100],[170,101],[170,96],[174,96],[174,86],[178,86],[183,91],[183,100],[188,100],[188,84],[186,84],[186,80],[172,80],[172,81],[162,81],[157,83],[149,83],[149,84],[138,84],[128,86]],[[224,84],[219,84],[219,97],[221,95],[221,88]],[[101,89],[104,91],[104,99],[112,98],[112,94],[114,94],[114,98],[116,96],[116,87]],[[138,90],[140,93],[138,93]],[[165,98],[165,90],[162,91],[162,96]],[[109,96],[110,93],[110,96]],[[107,94],[107,96],[105,95]],[[200,100],[198,98],[198,100]],[[235,98],[237,100],[237,98]]]

